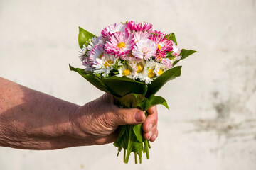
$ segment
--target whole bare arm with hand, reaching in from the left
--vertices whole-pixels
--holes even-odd
[[[1,146],[60,149],[102,145],[117,139],[119,125],[138,123],[144,123],[144,137],[154,141],[158,135],[156,107],[145,118],[139,109],[115,106],[109,94],[78,106],[0,77]]]

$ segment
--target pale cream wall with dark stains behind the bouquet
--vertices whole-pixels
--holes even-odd
[[[99,35],[120,21],[174,32],[198,53],[159,91],[159,137],[134,165],[112,145],[33,151],[0,147],[1,170],[256,169],[256,1],[0,0],[0,76],[82,105],[102,94],[68,64],[78,26]],[[1,95],[1,94],[0,94]]]

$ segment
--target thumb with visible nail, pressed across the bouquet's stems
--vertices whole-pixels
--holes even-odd
[[[117,125],[137,125],[144,123],[146,115],[137,108],[119,108],[117,113]]]

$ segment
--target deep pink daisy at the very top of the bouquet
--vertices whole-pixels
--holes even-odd
[[[127,23],[127,30],[129,30],[129,32],[132,32],[132,30],[135,31],[147,31],[147,30],[152,30],[152,24],[151,23],[146,23],[146,22],[142,22],[142,23],[137,23],[136,21],[129,21],[129,23]]]

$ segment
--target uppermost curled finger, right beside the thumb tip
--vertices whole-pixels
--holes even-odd
[[[158,120],[156,106],[149,108],[147,111],[149,115],[146,117],[146,120],[142,125],[144,132],[149,132],[154,127],[154,125],[156,125]]]

